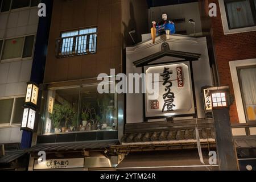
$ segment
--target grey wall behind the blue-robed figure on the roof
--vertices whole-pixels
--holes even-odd
[[[202,32],[198,2],[151,7],[148,10],[149,27],[152,27],[151,22],[153,20],[155,22],[162,20],[162,13],[167,13],[170,20],[185,18],[184,23],[176,23],[176,31],[187,31],[187,35],[192,35],[194,33],[193,25],[188,23],[188,20],[193,19],[196,22],[196,33],[200,34]]]

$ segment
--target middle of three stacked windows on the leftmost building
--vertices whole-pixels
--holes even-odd
[[[5,40],[3,43],[2,60],[32,57],[34,39],[35,36],[30,35]]]

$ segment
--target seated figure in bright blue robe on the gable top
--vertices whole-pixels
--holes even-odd
[[[171,20],[168,20],[168,16],[166,13],[162,14],[162,21],[156,23],[155,21],[152,22],[156,27],[157,35],[162,35],[166,33],[166,38],[170,38],[170,33],[175,34],[175,24]]]

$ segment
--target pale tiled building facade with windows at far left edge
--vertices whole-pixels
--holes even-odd
[[[6,156],[20,152],[24,98],[30,81],[38,30],[39,1],[0,1],[0,143]],[[12,160],[16,158],[11,158]],[[18,166],[1,159],[1,168],[26,169],[26,159]],[[15,167],[16,166],[16,167]]]

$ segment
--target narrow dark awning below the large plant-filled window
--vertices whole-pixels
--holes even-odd
[[[36,144],[28,151],[77,151],[77,150],[93,150],[93,149],[106,149],[110,146],[118,144],[118,140],[104,140],[104,141],[92,141],[92,142],[69,142],[69,143],[57,143],[57,144]]]

